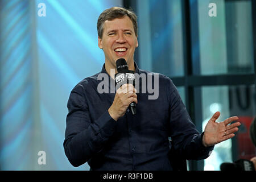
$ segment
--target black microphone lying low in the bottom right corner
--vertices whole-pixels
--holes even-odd
[[[222,163],[221,171],[254,171],[254,164],[250,160],[239,159],[234,163]]]

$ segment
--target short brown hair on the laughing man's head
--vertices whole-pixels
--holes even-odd
[[[106,20],[122,18],[125,15],[127,15],[131,19],[131,22],[133,22],[133,28],[134,28],[135,35],[138,36],[137,16],[133,12],[133,10],[127,10],[123,7],[111,7],[110,9],[104,10],[100,14],[100,16],[98,17],[98,22],[97,22],[98,36],[100,38],[102,38],[103,30],[104,30],[104,23]]]

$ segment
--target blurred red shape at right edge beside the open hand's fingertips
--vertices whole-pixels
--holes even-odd
[[[253,122],[252,117],[238,116],[241,123],[237,133],[238,159],[250,160],[256,156],[256,147],[250,138],[250,125]]]

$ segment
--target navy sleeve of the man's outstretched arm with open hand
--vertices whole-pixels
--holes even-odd
[[[184,156],[187,160],[206,159],[214,146],[205,147],[202,139],[204,133],[199,133],[196,126],[191,121],[191,117],[181,100],[179,93],[173,82],[169,80],[168,93],[170,94],[170,137],[173,142],[174,150]]]

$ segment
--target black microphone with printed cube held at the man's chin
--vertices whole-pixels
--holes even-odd
[[[133,84],[135,85],[134,72],[128,69],[126,60],[121,58],[116,61],[117,64],[117,74],[115,74],[115,89],[117,90],[123,84]],[[130,105],[130,110],[133,115],[136,114],[136,103],[132,102]]]

